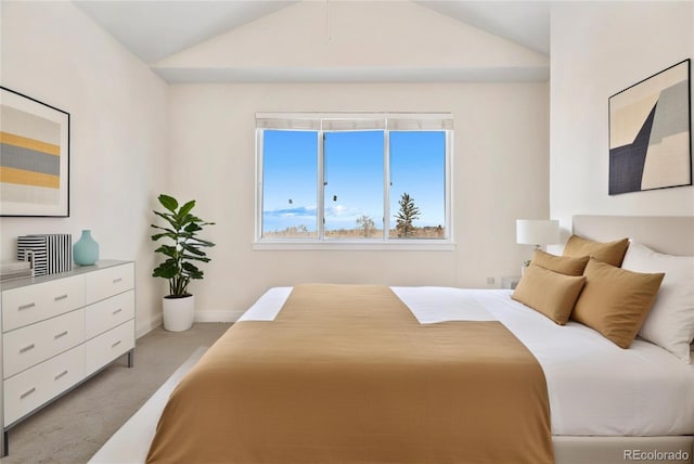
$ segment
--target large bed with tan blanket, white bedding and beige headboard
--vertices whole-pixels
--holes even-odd
[[[694,218],[574,218],[586,240],[629,237],[669,255],[694,255],[693,232]],[[374,304],[351,293],[320,299],[354,287],[262,295],[171,395],[147,462],[692,462],[694,364],[671,351],[560,326],[512,291],[359,288],[383,307],[395,301],[387,314],[359,312]],[[359,301],[352,320],[326,310],[306,323],[317,308],[344,312],[348,299]],[[371,346],[361,334],[373,326]],[[491,338],[506,331],[512,339]],[[479,346],[474,355],[491,359],[468,356]],[[208,454],[216,447],[222,454]]]

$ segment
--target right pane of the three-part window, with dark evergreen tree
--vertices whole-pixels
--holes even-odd
[[[389,236],[446,239],[446,132],[391,131],[389,142]]]

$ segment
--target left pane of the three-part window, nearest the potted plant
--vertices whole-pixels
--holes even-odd
[[[318,132],[262,132],[262,237],[318,236]]]

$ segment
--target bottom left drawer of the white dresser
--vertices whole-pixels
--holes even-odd
[[[85,346],[51,358],[4,382],[4,426],[34,411],[85,376]]]

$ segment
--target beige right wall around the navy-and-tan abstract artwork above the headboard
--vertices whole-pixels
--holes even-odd
[[[694,188],[609,196],[611,95],[694,55],[693,2],[552,5],[551,210],[565,235],[576,214],[694,216]]]

